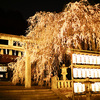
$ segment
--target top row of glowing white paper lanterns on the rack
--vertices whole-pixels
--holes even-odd
[[[72,54],[72,61],[76,64],[100,65],[100,56]]]

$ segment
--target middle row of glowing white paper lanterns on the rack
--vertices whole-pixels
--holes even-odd
[[[73,68],[74,78],[100,78],[100,69]]]

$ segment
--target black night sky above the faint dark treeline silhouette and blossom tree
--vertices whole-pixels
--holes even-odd
[[[59,12],[64,4],[70,0],[2,0],[0,8],[5,11],[19,11],[25,19],[35,14],[37,11]]]

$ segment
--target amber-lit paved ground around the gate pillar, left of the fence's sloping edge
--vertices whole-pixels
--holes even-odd
[[[0,100],[61,100],[51,89],[41,86],[13,86],[0,81]]]

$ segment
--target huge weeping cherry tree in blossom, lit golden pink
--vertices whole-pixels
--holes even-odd
[[[100,4],[69,3],[59,13],[37,12],[28,22],[27,37],[34,41],[28,43],[28,50],[35,82],[45,77],[49,81],[52,74],[57,75],[60,64],[70,59],[68,49],[100,50]],[[25,57],[18,59],[13,68],[13,83],[23,83]]]

